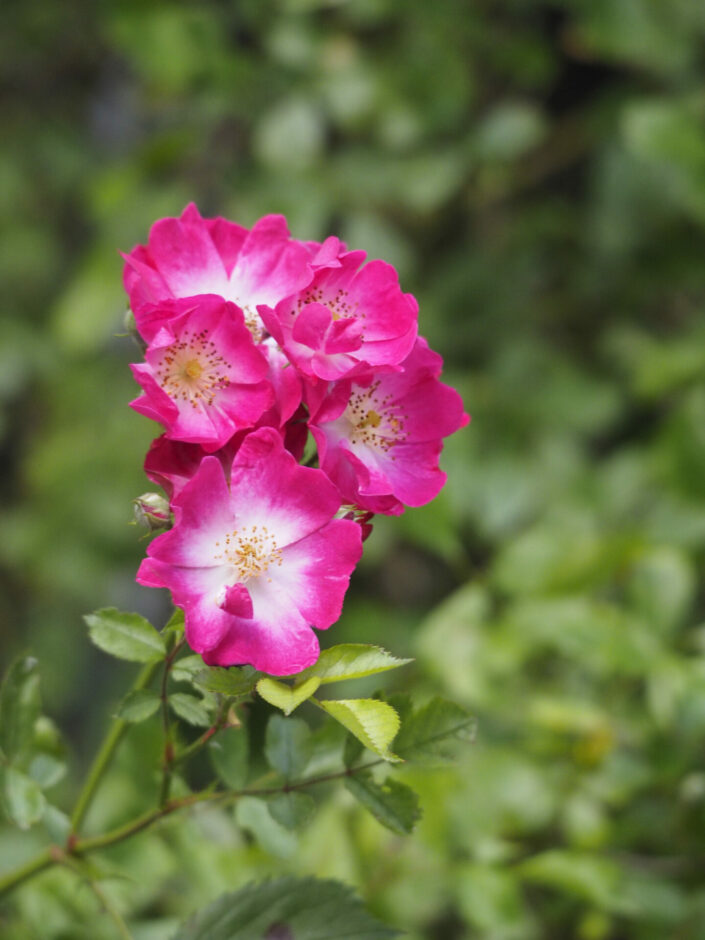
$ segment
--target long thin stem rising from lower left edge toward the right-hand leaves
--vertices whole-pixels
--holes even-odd
[[[25,865],[8,872],[7,875],[0,877],[0,897],[7,894],[13,888],[18,887],[40,872],[45,871],[52,865],[65,864],[67,857],[81,858],[90,852],[96,852],[99,849],[106,849],[109,846],[117,845],[126,839],[149,829],[160,819],[170,816],[172,813],[187,809],[199,803],[229,803],[240,799],[243,796],[274,796],[277,793],[289,793],[292,790],[304,790],[307,787],[313,787],[320,783],[328,783],[332,780],[339,780],[342,777],[351,777],[355,774],[369,770],[383,763],[381,758],[369,761],[367,764],[361,764],[359,767],[347,767],[344,770],[338,770],[329,774],[322,774],[318,777],[309,777],[308,780],[301,780],[298,783],[286,783],[279,787],[250,787],[243,790],[219,790],[216,792],[204,791],[194,793],[190,796],[184,796],[179,799],[167,800],[167,802],[158,809],[151,810],[138,816],[136,819],[105,832],[98,836],[89,836],[85,839],[73,839],[69,846],[62,850],[58,846],[49,846],[40,852],[34,859]]]

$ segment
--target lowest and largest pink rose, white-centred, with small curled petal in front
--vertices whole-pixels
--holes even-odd
[[[210,665],[272,675],[314,663],[311,628],[339,618],[362,553],[360,526],[333,518],[340,498],[326,475],[262,428],[241,444],[230,486],[207,456],[172,508],[174,527],[150,544],[137,580],[172,592],[191,648]]]

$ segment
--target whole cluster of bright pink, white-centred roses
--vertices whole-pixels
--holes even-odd
[[[145,348],[131,404],[164,428],[145,472],[174,519],[137,580],[171,591],[210,665],[314,663],[372,515],[433,499],[442,438],[468,421],[416,301],[365,257],[193,205],[125,255]]]

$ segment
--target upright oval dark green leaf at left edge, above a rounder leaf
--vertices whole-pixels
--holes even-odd
[[[31,752],[40,708],[37,660],[16,659],[0,688],[0,750],[11,763],[26,761]]]

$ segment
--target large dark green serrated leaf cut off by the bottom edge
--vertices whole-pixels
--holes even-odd
[[[317,878],[277,878],[225,894],[174,940],[386,940],[399,933],[367,913],[352,888]]]

